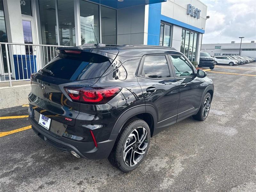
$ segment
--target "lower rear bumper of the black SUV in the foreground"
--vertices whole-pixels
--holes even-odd
[[[75,151],[80,157],[86,159],[107,158],[115,144],[117,137],[117,135],[111,135],[109,140],[97,143],[98,147],[96,148],[93,142],[79,142],[60,137],[44,129],[33,118],[29,117],[28,119],[32,125],[32,129],[45,142],[67,153],[70,153],[70,151]]]

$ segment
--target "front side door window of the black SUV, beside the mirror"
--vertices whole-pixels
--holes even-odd
[[[170,59],[172,60],[177,77],[193,75],[193,68],[190,66],[185,57],[170,55]]]

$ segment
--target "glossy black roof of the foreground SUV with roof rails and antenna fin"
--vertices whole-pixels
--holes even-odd
[[[111,45],[111,44],[83,44],[76,47],[58,47],[57,50],[83,50],[86,52],[105,52],[124,57],[142,57],[145,54],[178,54],[172,47],[156,46],[156,45]],[[101,54],[103,55],[103,54]]]

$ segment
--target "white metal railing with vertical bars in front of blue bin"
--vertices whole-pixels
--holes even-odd
[[[68,46],[0,42],[0,83],[9,82],[11,87],[13,81],[29,80],[58,55],[57,47]]]

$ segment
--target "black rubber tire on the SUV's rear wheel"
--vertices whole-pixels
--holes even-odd
[[[129,163],[128,161],[124,162],[124,159],[123,159],[123,152],[124,152],[124,148],[125,148],[125,145],[127,144],[127,140],[128,140],[128,137],[129,135],[134,132],[134,130],[136,129],[141,129],[140,127],[143,127],[147,130],[147,138],[145,138],[145,143],[143,142],[144,145],[147,145],[146,149],[144,150],[144,154],[142,157],[140,157],[139,161],[137,164],[134,164],[132,166],[128,166],[127,163]],[[139,130],[140,131],[140,130]],[[130,137],[131,138],[131,137]],[[143,139],[142,139],[143,140]],[[134,169],[136,169],[140,163],[144,160],[147,152],[148,152],[148,147],[149,147],[149,143],[150,143],[150,129],[149,129],[149,126],[148,124],[141,120],[141,119],[138,119],[138,118],[134,118],[134,119],[131,119],[130,121],[126,122],[124,124],[124,128],[122,130],[122,132],[120,132],[119,136],[117,137],[116,139],[116,142],[115,142],[115,145],[111,151],[111,153],[109,154],[108,156],[108,161],[114,166],[116,167],[117,169],[120,169],[121,171],[123,172],[130,172],[130,171],[133,171]],[[137,144],[138,146],[139,144]],[[129,144],[128,144],[129,146]],[[132,145],[133,146],[133,145]],[[132,147],[131,147],[132,148]],[[135,147],[136,148],[136,147]],[[138,146],[139,148],[139,146]],[[137,150],[139,150],[137,148]],[[132,148],[132,152],[134,152],[134,148]],[[131,154],[131,150],[127,150],[127,151],[130,151],[129,153]],[[128,153],[128,154],[129,154]],[[127,154],[127,156],[128,156]],[[133,153],[135,154],[135,153]],[[136,153],[137,154],[137,153]],[[138,155],[139,156],[139,155]],[[133,156],[134,157],[134,156]],[[130,158],[131,159],[131,158]],[[126,159],[125,159],[126,160]]]

